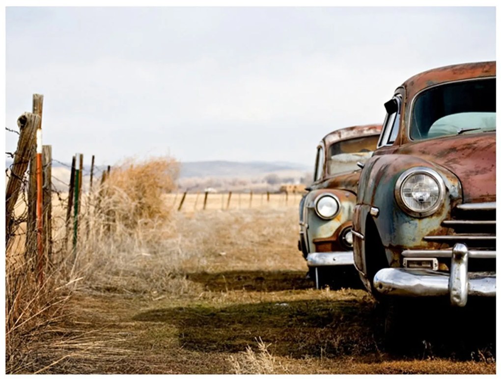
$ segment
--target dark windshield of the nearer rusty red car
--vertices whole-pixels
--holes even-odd
[[[414,140],[496,128],[495,78],[440,85],[419,94],[412,109]]]

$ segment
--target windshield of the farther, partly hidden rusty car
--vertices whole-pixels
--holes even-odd
[[[330,175],[358,169],[357,162],[365,162],[376,149],[379,135],[346,139],[333,143],[328,149],[327,171]]]

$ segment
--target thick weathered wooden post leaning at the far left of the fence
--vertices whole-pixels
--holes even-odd
[[[14,163],[12,165],[11,176],[9,178],[9,182],[7,183],[5,195],[6,248],[12,234],[14,208],[16,206],[16,202],[18,201],[23,177],[28,168],[33,146],[35,145],[35,137],[40,120],[40,116],[33,113],[24,113],[18,118],[18,126],[20,129],[18,147],[16,155],[14,156]]]

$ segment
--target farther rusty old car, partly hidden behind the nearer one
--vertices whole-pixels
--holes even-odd
[[[381,124],[351,126],[327,134],[317,146],[313,184],[299,206],[298,243],[317,288],[355,272],[351,218],[359,165],[375,150],[380,132]]]

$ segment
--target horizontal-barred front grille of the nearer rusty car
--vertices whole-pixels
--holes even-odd
[[[469,249],[494,250],[496,246],[495,203],[460,204],[442,226],[449,228],[446,236],[426,236],[425,241],[439,242],[449,247],[461,242]]]

